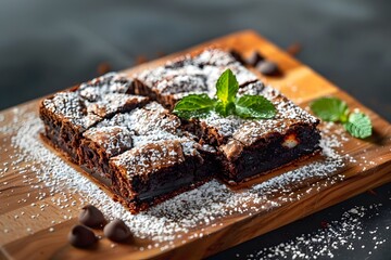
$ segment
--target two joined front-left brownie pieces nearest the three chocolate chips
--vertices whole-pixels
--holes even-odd
[[[162,105],[116,114],[83,133],[83,167],[133,212],[211,179],[215,151],[180,129]],[[93,177],[97,178],[97,174]]]

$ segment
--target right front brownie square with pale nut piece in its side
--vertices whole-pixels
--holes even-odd
[[[212,113],[190,120],[202,140],[217,146],[224,180],[235,184],[319,151],[317,118],[260,81],[240,88],[243,94],[264,95],[275,105],[276,116],[252,120]]]

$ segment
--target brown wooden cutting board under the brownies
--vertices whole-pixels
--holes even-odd
[[[306,185],[298,186],[293,192],[301,194],[300,199],[286,200],[277,207],[257,210],[255,213],[237,212],[229,217],[223,217],[215,223],[203,225],[203,236],[194,236],[193,234],[200,233],[201,226],[194,227],[188,234],[184,234],[181,239],[176,238],[169,242],[169,247],[166,247],[165,250],[161,248],[164,244],[155,247],[153,242],[137,237],[133,244],[116,244],[115,247],[112,247],[111,242],[101,239],[96,248],[77,249],[67,243],[66,237],[72,225],[77,223],[75,216],[80,206],[68,205],[67,211],[74,217],[64,218],[61,223],[52,223],[52,219],[61,218],[62,216],[59,214],[62,214],[63,211],[52,203],[54,199],[50,197],[43,198],[49,205],[45,207],[45,210],[39,207],[42,198],[37,198],[34,195],[37,194],[36,188],[26,184],[25,181],[36,174],[34,171],[29,171],[29,167],[33,166],[24,165],[23,174],[20,172],[21,167],[16,167],[16,169],[13,167],[16,152],[11,147],[11,138],[15,132],[7,129],[14,123],[14,114],[17,110],[37,113],[38,101],[36,100],[0,113],[0,129],[2,129],[0,131],[0,259],[199,259],[391,181],[391,126],[389,122],[254,31],[247,30],[229,35],[182,53],[193,52],[209,46],[234,48],[243,55],[258,50],[267,58],[276,62],[283,74],[282,77],[260,75],[260,78],[279,89],[302,107],[316,98],[335,95],[346,101],[350,107],[358,107],[368,114],[374,123],[373,136],[357,140],[346,135],[348,139],[343,146],[338,148],[339,153],[354,158],[354,162],[346,164],[339,171],[343,178],[331,183],[325,179],[308,180],[308,183],[315,184],[317,188],[311,190]],[[130,68],[125,73],[131,75],[147,66],[153,67],[181,53]],[[24,161],[17,161],[18,166],[23,166],[23,164]],[[294,167],[300,167],[300,162]],[[267,178],[281,174],[286,170],[288,168],[274,172]],[[267,178],[255,179],[239,188],[247,188],[247,186],[261,183]],[[31,195],[26,196],[26,194]],[[79,195],[75,194],[74,196]],[[26,231],[26,226],[34,229]],[[140,250],[140,245],[143,250]]]

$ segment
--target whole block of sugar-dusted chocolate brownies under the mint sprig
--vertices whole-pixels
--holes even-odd
[[[262,94],[273,119],[184,120],[172,114],[190,93],[215,95],[227,68],[239,94]],[[186,55],[134,78],[108,74],[41,102],[43,138],[91,174],[131,212],[213,178],[230,184],[265,174],[319,151],[318,119],[264,86],[218,49]]]

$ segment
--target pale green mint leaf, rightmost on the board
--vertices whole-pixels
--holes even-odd
[[[369,117],[361,112],[350,114],[343,126],[354,138],[365,139],[370,136],[373,132]]]

